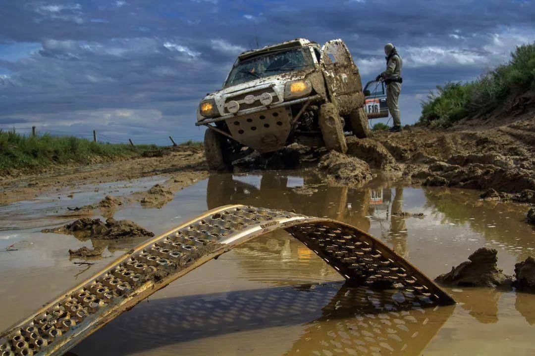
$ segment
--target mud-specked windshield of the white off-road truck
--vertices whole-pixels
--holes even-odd
[[[308,48],[270,53],[239,62],[232,68],[224,87],[311,66],[314,66],[314,60]]]

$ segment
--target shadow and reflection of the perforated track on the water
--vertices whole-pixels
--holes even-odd
[[[418,355],[454,308],[341,282],[163,298],[136,306],[72,351],[171,354],[173,344],[201,341],[184,353],[226,354],[254,339],[262,354]],[[278,328],[293,339],[289,349],[278,342]],[[218,338],[227,334],[247,339]]]

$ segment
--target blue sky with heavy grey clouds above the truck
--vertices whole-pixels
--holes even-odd
[[[202,139],[198,101],[236,55],[296,37],[342,38],[363,81],[393,42],[402,122],[435,85],[467,81],[535,41],[535,2],[0,0],[0,129],[136,143]]]

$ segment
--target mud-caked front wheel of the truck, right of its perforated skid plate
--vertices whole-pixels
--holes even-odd
[[[331,102],[319,108],[319,129],[322,130],[325,147],[341,153],[347,152],[346,137],[343,135],[342,119],[337,107]]]

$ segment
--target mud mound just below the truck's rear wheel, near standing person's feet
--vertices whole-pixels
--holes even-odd
[[[384,171],[396,169],[396,160],[383,144],[369,138],[347,138],[347,154]]]

